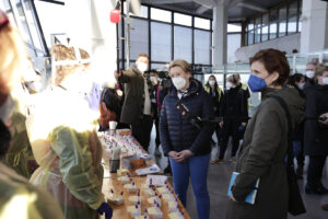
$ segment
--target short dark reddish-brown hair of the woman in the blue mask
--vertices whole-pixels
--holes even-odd
[[[269,74],[274,71],[279,73],[279,78],[274,81],[276,85],[283,85],[286,82],[290,76],[290,65],[282,51],[273,48],[259,50],[249,59],[250,65],[255,61],[263,64]]]

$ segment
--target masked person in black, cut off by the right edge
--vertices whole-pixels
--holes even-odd
[[[328,111],[328,67],[319,65],[315,69],[314,80],[304,89],[306,96],[306,120],[304,129],[304,150],[309,157],[307,169],[307,194],[327,194],[321,183],[326,157],[328,155],[328,129],[317,119]]]

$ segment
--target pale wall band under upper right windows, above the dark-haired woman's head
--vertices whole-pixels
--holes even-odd
[[[276,48],[282,51],[286,51],[288,54],[292,54],[293,49],[297,49],[300,51],[300,47],[301,33],[296,33],[293,35],[283,36],[281,38],[276,38],[268,42],[238,48],[235,55],[238,61],[249,61],[249,58],[261,49]]]

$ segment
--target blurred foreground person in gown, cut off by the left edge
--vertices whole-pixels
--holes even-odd
[[[11,92],[21,85],[21,73],[28,60],[17,30],[0,10],[0,159],[13,147],[11,120],[15,102]],[[0,217],[63,219],[60,207],[45,191],[37,188],[0,161]]]

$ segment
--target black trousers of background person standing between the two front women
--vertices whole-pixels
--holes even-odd
[[[219,159],[224,158],[224,153],[227,148],[229,137],[232,136],[233,147],[231,157],[235,157],[239,147],[239,137],[238,137],[238,126],[239,123],[235,120],[224,120],[223,123],[223,140],[220,146],[220,155]]]

